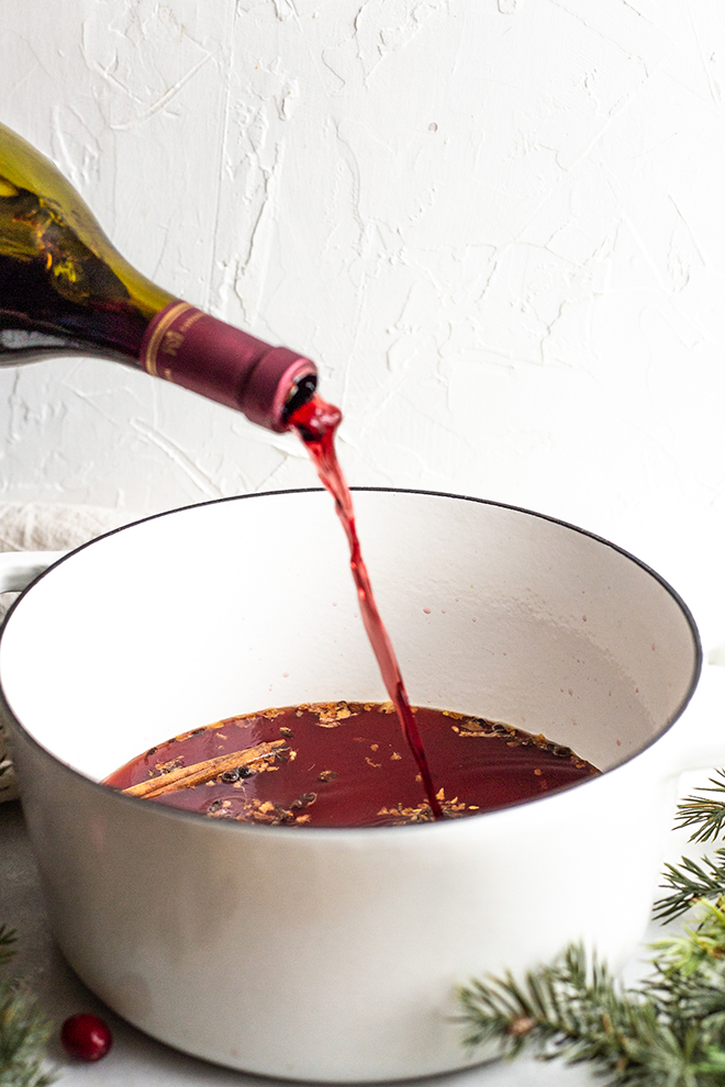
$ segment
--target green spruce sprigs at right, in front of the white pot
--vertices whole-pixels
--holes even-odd
[[[679,807],[678,825],[699,828],[691,841],[725,828],[725,772],[711,785],[703,792],[720,798],[696,795]],[[657,916],[694,907],[693,923],[652,945],[652,973],[638,988],[621,987],[572,944],[523,983],[506,974],[461,989],[466,1044],[588,1061],[612,1087],[725,1087],[725,848],[668,864],[665,876],[672,893],[656,903]]]

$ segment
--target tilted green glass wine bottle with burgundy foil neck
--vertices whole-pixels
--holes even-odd
[[[55,166],[0,124],[0,366],[68,354],[146,370],[271,430],[316,384],[310,359],[140,274]]]

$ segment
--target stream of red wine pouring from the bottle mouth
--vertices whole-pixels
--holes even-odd
[[[423,787],[435,819],[443,819],[443,808],[436,796],[431,776],[431,770],[423,749],[415,716],[411,709],[403,676],[398,664],[395,651],[380,618],[378,606],[372,595],[372,586],[367,567],[362,561],[360,542],[355,527],[355,511],[353,496],[343,475],[335,452],[335,432],[343,415],[338,407],[325,403],[316,393],[306,403],[298,407],[289,416],[289,425],[297,430],[306,446],[312,461],[317,470],[320,481],[335,500],[337,516],[343,523],[345,535],[350,548],[350,570],[360,602],[360,612],[370,646],[378,661],[380,674],[386,690],[395,707],[403,736],[415,759],[423,781]]]

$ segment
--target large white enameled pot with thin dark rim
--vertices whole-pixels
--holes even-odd
[[[98,784],[225,716],[384,699],[321,491],[111,533],[42,574],[0,641],[3,720],[68,962],[180,1050],[317,1082],[481,1060],[455,1022],[471,976],[522,971],[579,938],[622,964],[648,920],[677,772],[712,753],[700,694],[678,721],[698,634],[651,570],[502,505],[387,490],[355,501],[413,704],[544,732],[600,777],[375,830],[222,822]],[[5,561],[12,587],[19,562],[38,560]]]

